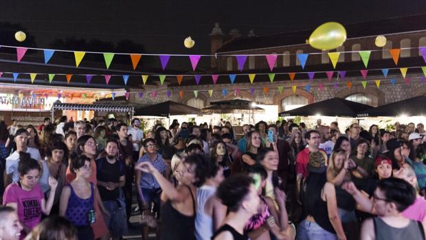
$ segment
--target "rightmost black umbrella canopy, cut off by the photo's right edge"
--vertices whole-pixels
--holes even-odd
[[[360,111],[359,117],[391,117],[391,116],[425,116],[426,115],[426,96],[408,98],[398,102],[381,105],[374,109]]]

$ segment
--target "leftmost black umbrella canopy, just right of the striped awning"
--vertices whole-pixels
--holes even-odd
[[[135,109],[135,116],[161,116],[200,114],[201,110],[196,107],[181,104],[179,102],[161,102],[156,105],[139,107]]]

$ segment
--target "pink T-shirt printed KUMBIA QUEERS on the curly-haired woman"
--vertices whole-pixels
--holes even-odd
[[[9,184],[3,193],[3,205],[18,204],[18,217],[25,226],[32,229],[41,221],[41,199],[43,191],[36,184],[30,191],[23,190],[17,183]],[[21,238],[23,239],[23,234]]]

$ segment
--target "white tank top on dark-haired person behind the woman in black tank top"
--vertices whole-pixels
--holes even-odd
[[[197,190],[197,215],[195,217],[195,237],[197,240],[210,240],[213,236],[213,218],[204,211],[207,200],[216,193],[214,186],[203,185]]]

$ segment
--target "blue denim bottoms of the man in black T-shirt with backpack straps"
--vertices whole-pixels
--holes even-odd
[[[109,218],[104,217],[111,237],[122,237],[127,234],[126,205],[124,201],[102,201],[104,207],[109,212]]]

